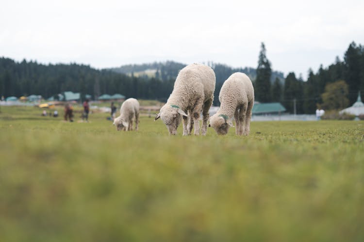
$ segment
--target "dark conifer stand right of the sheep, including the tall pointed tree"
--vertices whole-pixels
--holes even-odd
[[[333,64],[327,68],[321,65],[316,73],[309,69],[307,81],[291,72],[284,78],[283,85],[278,78],[271,83],[270,65],[265,45],[262,43],[254,82],[255,99],[263,103],[281,102],[290,113],[296,110],[298,114],[313,114],[317,107],[331,106],[325,104],[324,99],[329,95],[327,91],[336,90],[332,88],[334,83],[341,90],[340,97],[348,99],[348,104],[339,102],[342,105],[336,108],[352,105],[358,97],[358,91],[364,93],[364,46],[355,42],[348,46],[343,61],[336,57]],[[340,97],[337,96],[338,99]]]

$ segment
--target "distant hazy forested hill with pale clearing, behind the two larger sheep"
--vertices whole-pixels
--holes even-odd
[[[176,79],[178,72],[185,67],[187,64],[175,62],[175,61],[165,61],[165,62],[153,62],[144,64],[131,64],[122,65],[120,67],[111,68],[110,70],[116,73],[123,73],[129,76],[139,76],[142,78],[155,77],[161,79],[162,81],[169,79]],[[211,66],[216,75],[216,82],[224,82],[232,73],[243,72],[247,74],[251,80],[255,80],[257,72],[255,68],[245,67],[245,68],[232,68],[225,64],[219,64],[214,62],[208,62],[207,65]],[[284,82],[284,76],[282,72],[273,71],[271,76],[271,82],[273,83],[276,78]]]

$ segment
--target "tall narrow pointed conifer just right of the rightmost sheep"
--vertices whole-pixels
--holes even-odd
[[[255,79],[255,99],[262,103],[271,101],[270,77],[272,75],[272,70],[270,68],[270,62],[266,58],[265,52],[265,45],[262,42],[259,53],[257,77]]]

